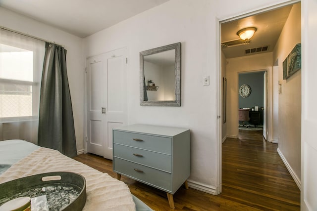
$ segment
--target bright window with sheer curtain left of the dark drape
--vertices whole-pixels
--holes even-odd
[[[38,116],[45,42],[0,30],[0,119]]]

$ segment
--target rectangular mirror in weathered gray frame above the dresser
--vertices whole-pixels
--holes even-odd
[[[180,42],[140,52],[140,105],[180,106]]]

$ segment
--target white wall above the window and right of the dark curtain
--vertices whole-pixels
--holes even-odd
[[[83,150],[84,139],[84,59],[82,39],[59,29],[0,7],[0,26],[48,41],[67,49],[67,75],[73,104],[77,151]]]

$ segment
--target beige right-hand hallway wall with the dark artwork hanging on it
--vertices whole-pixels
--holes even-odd
[[[297,43],[301,43],[300,4],[292,7],[273,53],[273,61],[278,60],[279,81],[282,84],[278,99],[278,150],[287,161],[291,173],[295,174],[295,181],[301,178],[301,70],[283,80],[283,61]]]

